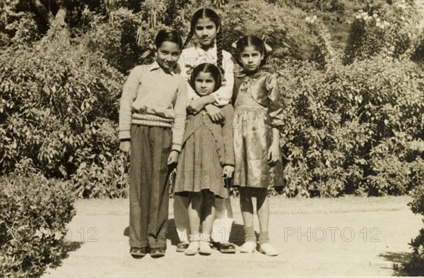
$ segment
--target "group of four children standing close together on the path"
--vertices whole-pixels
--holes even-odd
[[[177,251],[209,255],[212,239],[220,252],[235,253],[228,242],[232,211],[229,188],[224,186],[234,172],[245,224],[240,252],[257,248],[252,206],[256,197],[259,251],[278,255],[269,243],[267,198],[271,171],[273,185],[282,185],[278,84],[261,68],[265,44],[254,36],[237,42],[235,59],[242,71],[235,74],[234,84],[234,65],[222,49],[220,28],[214,11],[197,11],[184,47],[193,35],[197,43],[182,53],[177,32],[161,30],[155,40],[156,61],[134,68],[124,85],[119,147],[131,153],[129,245],[134,258],[165,255],[168,177],[175,164],[174,214],[181,241]]]

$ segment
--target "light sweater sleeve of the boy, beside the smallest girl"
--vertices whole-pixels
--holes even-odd
[[[181,152],[182,137],[184,135],[186,121],[186,103],[187,103],[187,83],[181,78],[178,89],[177,98],[175,100],[175,118],[172,124],[172,150]]]

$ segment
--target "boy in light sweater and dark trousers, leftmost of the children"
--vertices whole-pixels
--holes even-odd
[[[136,66],[124,85],[119,109],[119,148],[131,155],[129,246],[134,258],[165,255],[168,166],[178,161],[186,118],[187,85],[174,73],[182,40],[160,30],[155,61]]]

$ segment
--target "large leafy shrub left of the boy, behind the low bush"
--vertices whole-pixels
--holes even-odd
[[[69,179],[83,162],[119,159],[123,75],[105,59],[72,46],[64,32],[34,49],[6,52],[0,61],[0,174],[30,165],[47,177]]]

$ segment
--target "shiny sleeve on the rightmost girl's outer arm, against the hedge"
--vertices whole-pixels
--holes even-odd
[[[269,107],[268,113],[271,119],[271,126],[276,128],[283,125],[284,114],[281,104],[280,89],[275,75],[270,74],[266,78],[266,90],[268,90]]]

